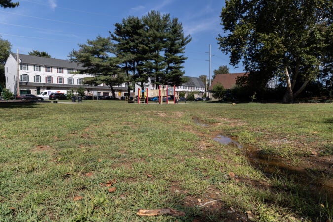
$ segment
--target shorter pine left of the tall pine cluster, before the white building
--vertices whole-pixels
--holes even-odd
[[[113,85],[124,81],[119,72],[119,60],[115,56],[114,46],[109,37],[97,36],[94,40],[87,40],[86,44],[79,44],[79,50],[72,50],[69,57],[71,61],[82,64],[85,70],[81,74],[89,73],[92,77],[84,78],[85,84],[97,85],[105,83],[110,86],[115,97]]]

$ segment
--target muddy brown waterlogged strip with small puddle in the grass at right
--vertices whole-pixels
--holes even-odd
[[[310,190],[327,195],[333,199],[333,156],[296,156],[286,159],[279,156],[262,153],[252,146],[241,146],[235,139],[217,135],[214,139],[222,144],[234,145],[244,150],[249,162],[268,175],[283,173],[296,176],[299,183],[309,187]],[[274,143],[290,143],[287,140],[274,140]],[[297,162],[293,162],[297,160]]]

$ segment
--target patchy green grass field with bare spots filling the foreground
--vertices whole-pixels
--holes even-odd
[[[333,104],[3,104],[0,221],[332,222]]]

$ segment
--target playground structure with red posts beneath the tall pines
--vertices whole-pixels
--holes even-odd
[[[158,103],[163,104],[175,104],[178,102],[179,97],[176,93],[176,86],[172,88],[168,88],[167,85],[159,86],[159,89],[138,89],[138,94],[135,94],[135,92],[131,92],[130,98],[128,96],[125,97],[125,103],[138,103],[138,104],[148,104],[149,103],[149,97],[158,97]],[[164,99],[165,98],[165,99]]]

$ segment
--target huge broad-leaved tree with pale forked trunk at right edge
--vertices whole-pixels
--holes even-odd
[[[283,102],[292,102],[332,63],[332,7],[331,0],[227,0],[221,21],[228,34],[217,40],[231,65],[243,61],[266,82],[280,76]]]

